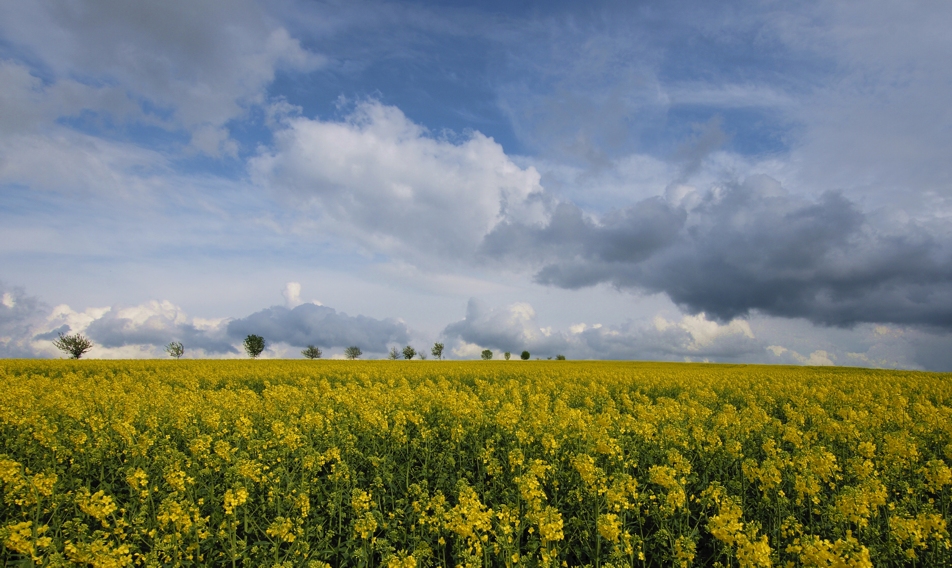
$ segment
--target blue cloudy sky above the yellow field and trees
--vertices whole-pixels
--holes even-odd
[[[952,371],[952,3],[0,2],[0,357]]]

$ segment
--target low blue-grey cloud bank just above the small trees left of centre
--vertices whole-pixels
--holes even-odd
[[[396,320],[349,316],[315,304],[302,304],[292,310],[275,306],[228,323],[228,335],[234,340],[249,334],[297,347],[356,345],[375,353],[386,352],[388,343],[407,343],[410,337],[406,324]]]

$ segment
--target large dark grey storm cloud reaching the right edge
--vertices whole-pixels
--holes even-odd
[[[690,206],[649,199],[598,221],[563,204],[545,226],[500,224],[481,253],[536,263],[542,284],[664,292],[721,321],[756,310],[952,330],[949,245],[913,222],[874,222],[840,194],[808,200],[751,176]]]

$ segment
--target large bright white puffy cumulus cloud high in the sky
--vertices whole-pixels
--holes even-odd
[[[418,262],[470,258],[503,219],[542,218],[538,172],[492,138],[435,137],[376,101],[340,122],[286,118],[250,167],[261,185],[310,204],[319,230]]]

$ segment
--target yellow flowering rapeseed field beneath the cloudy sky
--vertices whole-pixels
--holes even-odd
[[[4,566],[952,566],[952,375],[0,361]]]

